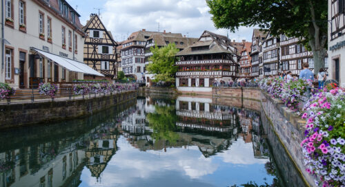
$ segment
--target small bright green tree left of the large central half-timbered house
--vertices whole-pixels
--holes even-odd
[[[146,66],[149,74],[155,74],[153,82],[159,80],[164,82],[175,83],[175,74],[177,72],[177,66],[175,66],[175,55],[179,50],[175,47],[175,44],[169,43],[165,47],[151,47],[150,51],[152,56],[149,61],[152,63]]]

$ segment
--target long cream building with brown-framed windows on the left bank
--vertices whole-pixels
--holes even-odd
[[[79,14],[66,1],[4,3],[0,83],[29,88],[83,79],[83,71],[75,65],[83,62],[84,34]]]

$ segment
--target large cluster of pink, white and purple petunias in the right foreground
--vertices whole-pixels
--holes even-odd
[[[320,91],[308,100],[304,110],[306,138],[301,146],[306,171],[315,177],[316,185],[344,186],[345,90]]]

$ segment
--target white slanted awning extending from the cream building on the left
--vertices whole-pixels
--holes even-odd
[[[103,76],[99,72],[97,72],[95,69],[92,69],[88,65],[84,63],[80,63],[78,61],[73,61],[69,58],[64,58],[62,56],[51,54],[48,52],[44,52],[42,50],[37,50],[34,47],[31,47],[31,50],[34,50],[35,52],[38,52],[41,56],[45,56],[46,58],[49,58],[51,61],[54,61],[58,65],[61,65],[62,67],[65,67],[66,69],[70,70],[71,72],[80,72],[83,74],[90,74],[95,76]]]

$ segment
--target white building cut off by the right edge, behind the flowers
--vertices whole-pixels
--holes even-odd
[[[345,1],[328,0],[328,72],[329,78],[345,83]]]

